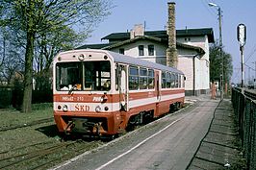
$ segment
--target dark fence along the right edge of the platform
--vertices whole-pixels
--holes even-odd
[[[233,88],[232,104],[238,121],[247,168],[256,170],[256,100],[243,95],[240,88]]]

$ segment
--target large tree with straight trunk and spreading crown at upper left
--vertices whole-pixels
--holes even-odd
[[[64,27],[90,30],[109,12],[107,0],[0,0],[0,25],[25,35],[22,112],[31,111],[35,40]]]

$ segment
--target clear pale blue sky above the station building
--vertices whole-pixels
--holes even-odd
[[[167,2],[176,3],[176,29],[213,28],[218,39],[218,8],[222,12],[222,42],[224,51],[232,56],[233,83],[241,82],[241,53],[237,40],[237,26],[246,26],[244,45],[245,82],[255,78],[256,61],[256,1],[255,0],[112,0],[114,8],[103,22],[97,25],[86,43],[101,43],[101,37],[112,33],[127,32],[135,24],[146,25],[146,31],[165,30]]]

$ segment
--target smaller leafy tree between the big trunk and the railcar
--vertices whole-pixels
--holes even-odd
[[[42,33],[36,40],[34,70],[37,90],[49,90],[52,86],[50,65],[60,51],[73,49],[88,37],[88,33],[77,34],[65,27],[58,32]]]

